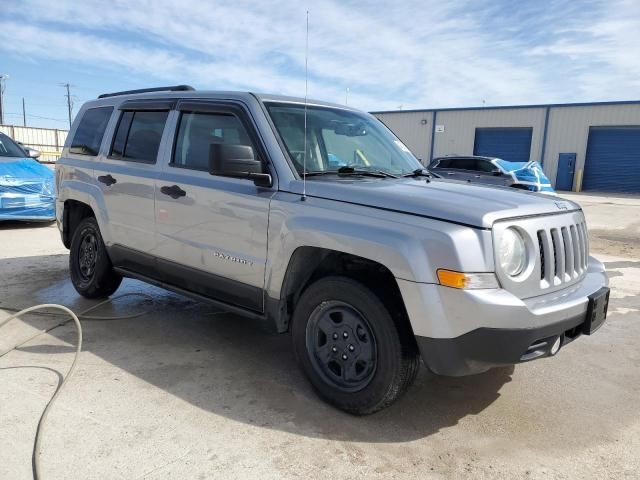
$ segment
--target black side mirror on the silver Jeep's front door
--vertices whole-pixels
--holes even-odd
[[[273,184],[271,175],[262,172],[262,162],[256,160],[249,145],[209,145],[209,173],[226,177],[248,178],[259,187]]]

